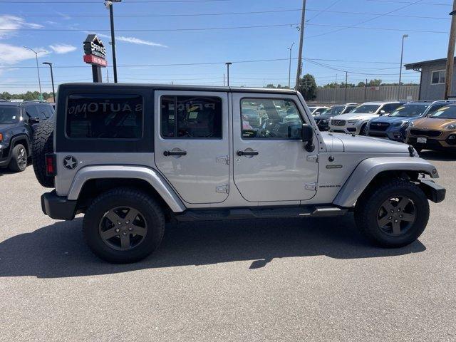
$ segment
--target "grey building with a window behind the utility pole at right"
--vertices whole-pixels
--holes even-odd
[[[446,64],[447,58],[405,64],[405,69],[407,70],[421,71],[420,100],[442,100],[445,91]],[[451,84],[450,96],[454,98],[456,96],[456,78],[454,73]]]

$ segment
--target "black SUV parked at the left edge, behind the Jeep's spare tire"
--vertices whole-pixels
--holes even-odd
[[[0,167],[26,170],[33,130],[53,115],[51,103],[0,101]]]

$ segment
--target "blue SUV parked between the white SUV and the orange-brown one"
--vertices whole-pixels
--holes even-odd
[[[367,135],[405,141],[405,130],[408,125],[419,118],[435,113],[439,108],[456,103],[454,100],[414,101],[396,108],[390,115],[373,118],[368,122]]]

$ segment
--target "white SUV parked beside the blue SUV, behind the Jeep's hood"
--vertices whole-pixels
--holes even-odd
[[[336,133],[352,133],[366,135],[369,120],[381,115],[388,115],[403,105],[403,102],[366,102],[358,105],[350,113],[331,118],[329,130]]]

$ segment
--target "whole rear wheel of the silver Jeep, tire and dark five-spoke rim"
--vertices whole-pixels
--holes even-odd
[[[98,196],[83,219],[92,252],[106,261],[138,261],[157,249],[165,217],[154,199],[135,189],[119,188]]]

